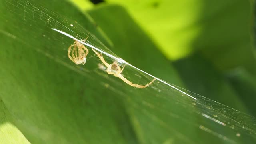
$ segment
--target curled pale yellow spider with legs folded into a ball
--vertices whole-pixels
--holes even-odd
[[[84,46],[83,42],[85,42],[87,38],[84,40],[81,40],[81,42],[75,40],[74,44],[72,44],[68,48],[68,58],[72,60],[72,62],[74,62],[75,64],[84,65],[86,62],[86,56],[89,53],[89,50]],[[71,48],[72,48],[72,52],[71,52]],[[71,56],[70,56],[70,52],[71,52]]]

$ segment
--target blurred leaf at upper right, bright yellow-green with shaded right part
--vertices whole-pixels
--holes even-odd
[[[172,61],[197,53],[221,71],[256,74],[253,0],[105,1],[124,6]]]

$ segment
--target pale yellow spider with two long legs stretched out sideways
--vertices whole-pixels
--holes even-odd
[[[100,60],[103,62],[103,64],[107,67],[107,73],[108,74],[113,74],[116,77],[119,77],[121,80],[123,80],[126,84],[129,84],[130,86],[134,86],[137,88],[146,88],[147,86],[149,86],[150,84],[152,84],[156,78],[154,78],[154,80],[152,80],[150,83],[146,84],[146,85],[139,85],[139,84],[133,84],[132,82],[130,82],[129,80],[127,80],[126,78],[124,78],[124,76],[122,76],[122,71],[124,70],[124,67],[121,69],[120,66],[117,64],[117,62],[113,62],[112,64],[108,64],[102,54],[100,55],[98,52],[96,52],[94,49],[92,49],[95,54],[97,54],[97,56],[100,58]]]

